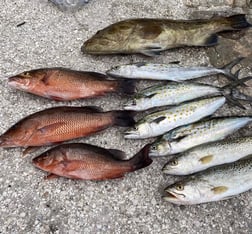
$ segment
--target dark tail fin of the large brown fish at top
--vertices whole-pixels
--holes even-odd
[[[232,15],[225,18],[225,24],[227,30],[240,30],[244,28],[249,28],[252,25],[247,21],[245,14]]]

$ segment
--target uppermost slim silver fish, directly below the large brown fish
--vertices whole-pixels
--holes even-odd
[[[137,62],[114,66],[106,74],[113,78],[169,80],[174,82],[183,82],[200,77],[223,74],[229,80],[237,81],[237,76],[231,70],[243,59],[243,57],[236,58],[222,68],[213,66],[185,66],[181,65],[180,61],[174,61],[168,64]]]

